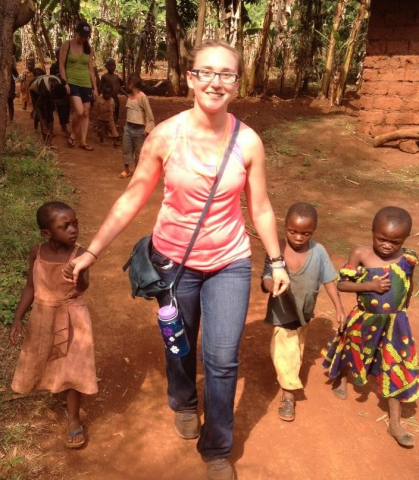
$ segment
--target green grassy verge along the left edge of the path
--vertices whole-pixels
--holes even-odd
[[[27,257],[40,241],[36,210],[50,200],[72,204],[75,195],[55,156],[16,127],[8,129],[0,174],[0,479],[63,478],[45,471],[39,438],[48,432],[39,418],[59,408],[50,395],[13,396],[10,384],[19,349],[7,337],[25,284]],[[55,402],[55,403],[54,403]]]

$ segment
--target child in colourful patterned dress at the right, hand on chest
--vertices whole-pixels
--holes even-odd
[[[377,378],[379,393],[389,404],[389,435],[413,447],[401,419],[401,402],[419,398],[418,359],[406,310],[413,291],[416,253],[403,248],[412,218],[398,207],[382,208],[372,223],[372,245],[357,247],[341,269],[338,289],[357,294],[343,333],[327,345],[323,367],[334,380],[333,393],[348,396],[347,373],[355,385]]]

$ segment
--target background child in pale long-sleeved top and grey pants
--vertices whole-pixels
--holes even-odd
[[[140,76],[136,73],[131,73],[128,77],[127,86],[130,95],[127,100],[127,121],[122,137],[124,170],[119,174],[119,178],[128,178],[132,175],[130,165],[134,164],[134,169],[137,166],[146,135],[155,126],[148,98],[140,90]]]

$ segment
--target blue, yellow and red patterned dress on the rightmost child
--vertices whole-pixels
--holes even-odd
[[[322,366],[336,378],[348,368],[355,385],[365,385],[368,375],[377,378],[384,398],[413,402],[419,398],[419,366],[415,342],[406,313],[407,294],[418,257],[404,249],[402,258],[387,267],[345,265],[339,281],[364,283],[389,273],[391,288],[379,294],[363,292],[349,314],[345,330],[322,350]]]

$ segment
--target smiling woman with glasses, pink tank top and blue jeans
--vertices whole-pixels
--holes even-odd
[[[176,275],[208,198],[235,119],[227,112],[239,87],[237,51],[219,40],[195,49],[187,72],[194,106],[160,123],[148,136],[125,192],[116,201],[88,252],[74,259],[65,275],[96,258],[141,211],[164,173],[164,199],[153,231],[152,261],[167,284]],[[228,461],[232,448],[238,350],[250,295],[250,242],[240,208],[244,191],[250,218],[273,265],[273,294],[285,292],[289,279],[278,243],[275,215],[266,190],[265,155],[259,136],[241,124],[226,170],[188,257],[177,299],[191,345],[182,358],[166,355],[168,402],[174,428],[184,439],[198,438],[206,479],[234,479]],[[142,232],[145,234],[145,232]],[[160,306],[168,293],[159,295]],[[201,327],[204,402],[198,415],[197,339]]]

